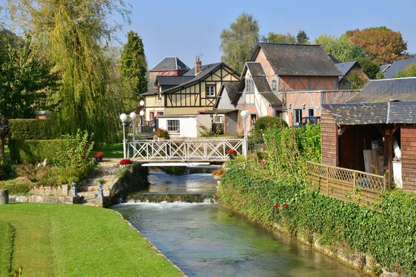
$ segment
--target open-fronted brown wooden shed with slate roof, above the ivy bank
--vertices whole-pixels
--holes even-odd
[[[322,105],[322,164],[416,191],[416,101]]]

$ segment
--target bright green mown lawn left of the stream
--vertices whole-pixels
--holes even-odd
[[[12,269],[23,276],[183,276],[116,212],[94,206],[0,206],[0,250],[15,231]],[[3,251],[2,251],[3,252]],[[8,265],[1,257],[1,272]],[[6,272],[6,276],[7,272]]]

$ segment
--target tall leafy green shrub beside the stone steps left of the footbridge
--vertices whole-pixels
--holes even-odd
[[[60,150],[59,165],[60,184],[69,184],[71,181],[79,182],[92,170],[94,163],[88,160],[89,152],[94,147],[92,141],[94,134],[87,131],[81,132],[78,129],[76,136],[64,136],[64,148]]]

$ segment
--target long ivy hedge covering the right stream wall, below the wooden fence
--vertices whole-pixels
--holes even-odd
[[[416,195],[385,193],[381,211],[343,202],[302,184],[259,179],[243,168],[227,170],[219,190],[221,204],[266,226],[278,226],[335,253],[349,249],[370,254],[388,271],[416,276]],[[275,205],[279,208],[276,209]],[[284,204],[288,206],[284,208]],[[348,250],[348,249],[346,249]],[[381,267],[370,270],[379,274]]]

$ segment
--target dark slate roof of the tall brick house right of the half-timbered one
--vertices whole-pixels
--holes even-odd
[[[320,45],[259,43],[252,56],[260,49],[278,75],[342,76]]]

